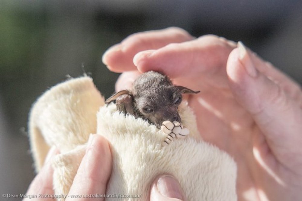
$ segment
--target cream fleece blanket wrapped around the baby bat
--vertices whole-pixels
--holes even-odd
[[[54,190],[56,195],[67,195],[88,137],[97,133],[108,139],[113,155],[107,194],[141,195],[123,200],[145,201],[153,179],[168,173],[178,179],[189,201],[237,200],[235,162],[200,139],[194,115],[185,103],[179,113],[190,134],[162,147],[166,134],[143,119],[120,114],[114,104],[104,106],[90,77],[70,79],[45,92],[31,110],[35,168],[39,171],[51,146],[58,147],[60,154],[53,161]]]

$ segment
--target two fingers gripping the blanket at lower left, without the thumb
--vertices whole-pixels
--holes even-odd
[[[27,195],[53,195],[53,169],[51,159],[58,153],[54,148],[48,153],[45,165],[32,181]],[[101,159],[101,160],[100,160]],[[91,198],[71,198],[70,195],[93,195],[106,193],[106,185],[112,168],[111,151],[108,142],[101,135],[92,135],[89,138],[86,153],[79,166],[69,191],[68,200],[91,200]],[[52,198],[25,198],[29,200],[53,200]],[[96,198],[93,200],[104,200]]]

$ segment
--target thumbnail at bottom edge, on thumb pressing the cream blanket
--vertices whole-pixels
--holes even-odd
[[[157,181],[157,188],[159,192],[169,198],[183,199],[182,188],[178,181],[170,175],[164,175]]]

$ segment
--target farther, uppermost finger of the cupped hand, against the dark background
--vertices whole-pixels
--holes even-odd
[[[103,63],[109,70],[117,73],[136,70],[133,57],[140,51],[158,49],[170,43],[181,43],[193,37],[183,29],[171,27],[157,31],[133,34],[120,44],[109,48],[103,55]]]

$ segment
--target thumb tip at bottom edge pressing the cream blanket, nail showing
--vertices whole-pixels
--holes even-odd
[[[152,184],[151,201],[185,201],[184,193],[178,181],[171,175],[161,175]]]

